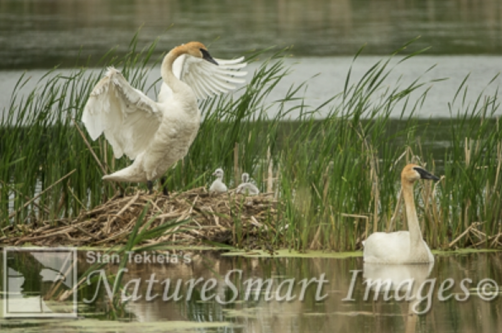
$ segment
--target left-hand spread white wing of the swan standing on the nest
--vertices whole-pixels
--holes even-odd
[[[162,120],[157,104],[109,67],[84,107],[82,122],[92,140],[104,133],[116,158],[136,156],[148,146]]]

